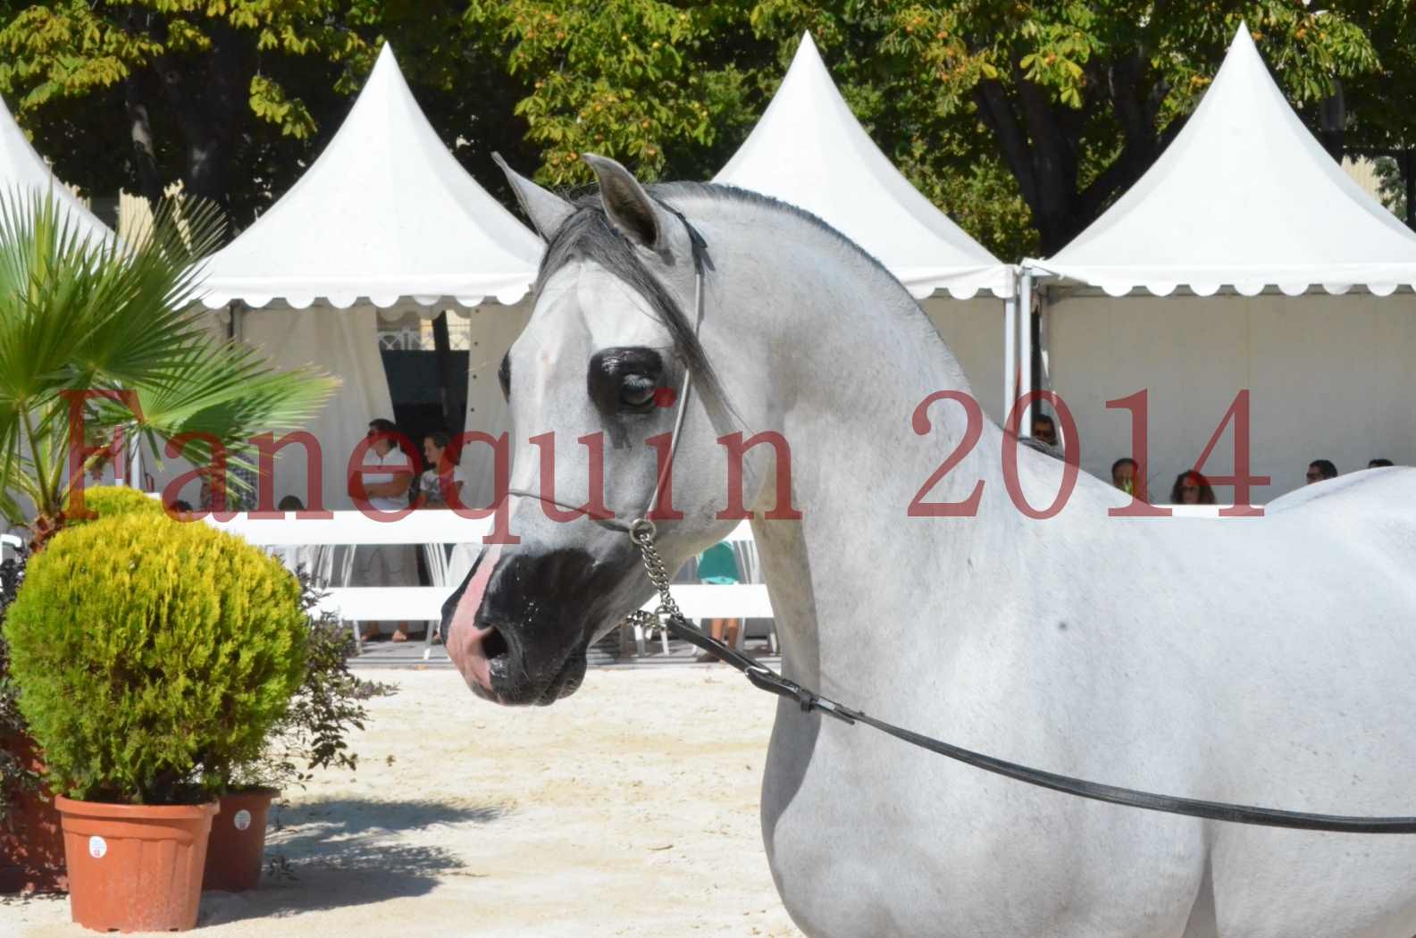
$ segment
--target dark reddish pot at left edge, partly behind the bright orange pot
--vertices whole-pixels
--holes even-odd
[[[30,737],[6,740],[6,750],[44,774],[44,761]],[[0,822],[0,893],[62,893],[69,886],[58,809],[47,792],[11,795],[10,813]]]

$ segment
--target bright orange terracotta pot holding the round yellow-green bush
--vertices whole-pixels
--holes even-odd
[[[102,805],[55,798],[69,864],[69,912],[95,931],[185,931],[197,924],[211,819],[207,805]]]

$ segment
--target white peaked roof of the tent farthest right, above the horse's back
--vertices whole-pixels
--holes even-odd
[[[1364,193],[1284,101],[1249,28],[1175,140],[1072,244],[1028,266],[1165,295],[1416,283],[1416,234]]]

